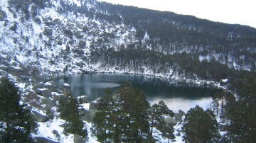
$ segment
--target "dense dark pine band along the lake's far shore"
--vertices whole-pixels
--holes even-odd
[[[196,78],[220,81],[228,79],[235,73],[225,64],[212,62],[200,62],[198,58],[186,54],[165,55],[161,52],[151,50],[137,50],[132,48],[115,51],[113,49],[92,50],[92,62],[102,62],[106,67],[119,67],[131,69],[143,74],[143,67],[149,67],[154,73],[168,73],[174,69],[174,73],[186,74],[188,78]]]

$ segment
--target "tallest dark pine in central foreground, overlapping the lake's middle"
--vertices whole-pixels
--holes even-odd
[[[144,92],[134,88],[129,82],[124,82],[119,88],[120,103],[124,117],[124,142],[142,142],[149,134],[149,102],[146,101]]]

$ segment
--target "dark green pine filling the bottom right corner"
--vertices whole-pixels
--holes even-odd
[[[223,142],[254,142],[256,139],[255,98],[250,102],[241,98],[237,101],[233,94],[225,96],[224,113],[220,117],[225,123]],[[238,130],[239,129],[239,130]]]

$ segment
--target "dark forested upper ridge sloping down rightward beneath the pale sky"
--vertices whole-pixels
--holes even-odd
[[[95,5],[88,8],[86,4]],[[195,16],[184,16],[168,11],[153,11],[133,6],[87,1],[81,7],[62,3],[60,12],[77,12],[110,23],[124,23],[136,29],[137,41],[130,45],[173,55],[186,52],[199,59],[215,60],[235,69],[255,70],[256,30],[246,25],[208,21]],[[144,39],[145,35],[149,39]],[[103,35],[102,42],[115,36]],[[93,46],[97,43],[92,43]],[[103,44],[103,47],[108,47]],[[111,47],[111,46],[110,46]],[[121,46],[115,47],[118,50]],[[210,58],[209,58],[210,57]],[[234,65],[235,62],[237,65]]]

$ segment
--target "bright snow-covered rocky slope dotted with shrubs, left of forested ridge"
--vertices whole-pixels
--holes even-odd
[[[28,11],[24,14],[9,1],[1,2],[6,18],[0,23],[0,50],[1,57],[9,57],[9,65],[35,67],[40,74],[92,71],[97,69],[97,65],[90,65],[92,48],[119,47],[136,40],[136,30],[131,26],[98,21],[86,14],[59,13],[61,2],[80,4],[48,1],[46,5],[51,6],[40,8],[31,2],[25,5]],[[101,46],[92,47],[95,42]]]

